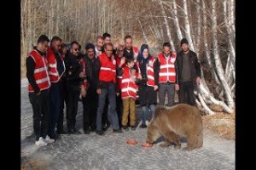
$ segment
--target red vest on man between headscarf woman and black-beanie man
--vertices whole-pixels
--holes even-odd
[[[159,71],[159,82],[176,82],[176,71],[174,62],[176,59],[176,54],[172,53],[169,59],[166,59],[164,54],[159,54],[158,59],[160,61],[160,71]]]

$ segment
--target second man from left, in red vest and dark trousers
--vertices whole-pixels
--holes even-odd
[[[55,127],[58,117],[61,113],[61,76],[65,71],[65,65],[59,53],[61,49],[62,40],[60,37],[52,37],[50,41],[50,48],[47,49],[48,60],[48,74],[51,87],[49,88],[49,112],[50,122],[48,135],[50,139],[59,139],[60,137],[55,133]]]

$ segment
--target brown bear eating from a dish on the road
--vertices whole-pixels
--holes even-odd
[[[169,107],[157,106],[154,116],[148,124],[147,143],[154,144],[160,136],[166,138],[166,147],[171,143],[181,148],[180,136],[187,138],[183,150],[194,150],[203,144],[203,125],[200,111],[192,105],[177,104]]]

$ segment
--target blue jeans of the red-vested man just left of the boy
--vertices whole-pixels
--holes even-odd
[[[104,106],[106,105],[106,98],[108,97],[109,107],[108,107],[108,120],[111,122],[114,130],[119,129],[119,118],[117,116],[115,106],[115,88],[114,83],[109,82],[108,87],[102,88],[102,94],[99,94],[99,102],[96,116],[96,130],[102,131],[102,113]]]

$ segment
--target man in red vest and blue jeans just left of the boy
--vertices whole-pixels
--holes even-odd
[[[108,97],[109,109],[108,120],[112,124],[113,133],[122,133],[119,129],[119,120],[115,111],[116,107],[116,60],[113,56],[113,44],[108,42],[104,46],[104,52],[100,55],[101,69],[99,72],[99,83],[97,94],[99,94],[98,109],[96,116],[96,133],[102,135],[102,113]]]

